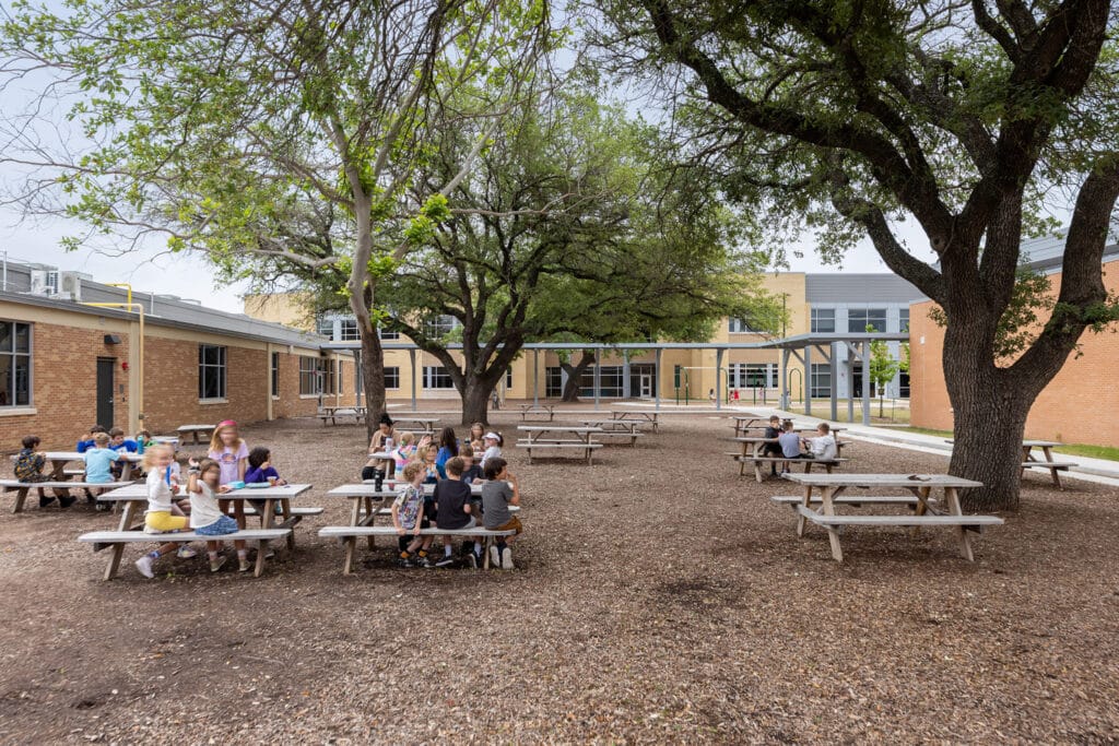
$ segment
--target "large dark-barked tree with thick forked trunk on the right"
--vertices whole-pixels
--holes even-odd
[[[1100,273],[1119,196],[1116,11],[1107,0],[606,3],[621,68],[670,92],[684,152],[774,225],[819,230],[835,257],[858,234],[948,320],[950,471],[980,509],[1017,506],[1021,440],[1037,394],[1085,329],[1117,318]],[[1111,40],[1109,40],[1109,35]],[[681,70],[686,75],[678,75]],[[1022,239],[1071,216],[1063,281],[1012,362],[996,337]],[[912,219],[939,262],[897,239]],[[1004,362],[1000,365],[1000,362]]]

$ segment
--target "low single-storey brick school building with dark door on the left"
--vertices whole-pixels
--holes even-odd
[[[129,303],[133,305],[128,306]],[[6,262],[0,281],[0,437],[69,450],[91,425],[179,425],[314,415],[345,399],[354,357],[314,333]]]

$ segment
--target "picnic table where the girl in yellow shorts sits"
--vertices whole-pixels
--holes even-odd
[[[267,488],[244,488],[241,490],[233,490],[224,494],[218,495],[219,504],[223,509],[226,506],[232,506],[232,516],[236,519],[237,526],[242,531],[245,530],[245,517],[248,514],[258,514],[261,518],[261,529],[267,533],[272,533],[274,529],[285,531],[285,538],[288,540],[288,548],[292,549],[295,547],[295,535],[291,530],[300,520],[302,520],[304,514],[314,514],[314,511],[322,512],[321,509],[303,509],[301,512],[297,512],[299,509],[293,509],[291,507],[292,498],[303,494],[311,489],[310,484],[278,484],[276,487]],[[189,494],[186,491],[186,485],[180,484],[179,490],[175,495],[176,500],[182,500],[188,498]],[[253,507],[246,507],[246,500],[264,500],[264,507],[257,511]],[[142,507],[148,502],[148,485],[145,483],[130,484],[128,487],[122,487],[110,492],[104,492],[97,497],[98,502],[112,502],[112,503],[124,503],[124,510],[121,512],[121,520],[117,526],[117,531],[141,531],[143,530],[143,521],[137,522],[137,514],[139,513],[142,518]],[[276,508],[279,506],[280,513],[283,521],[279,525],[275,522],[276,519]],[[311,512],[308,512],[310,510]],[[145,536],[151,537],[153,544],[159,544],[161,541],[173,541],[176,540],[176,533],[148,533]],[[228,537],[214,537],[210,540],[228,540]],[[117,567],[121,564],[121,555],[124,553],[124,545],[116,542],[110,545],[112,551],[109,556],[109,564],[105,567],[105,579],[111,579],[115,574]],[[253,575],[260,577],[261,573],[264,572],[264,555],[265,548],[262,546],[257,551],[256,567],[254,568]]]

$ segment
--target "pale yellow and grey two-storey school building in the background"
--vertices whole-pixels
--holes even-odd
[[[780,337],[862,333],[867,327],[880,332],[904,331],[909,325],[910,304],[922,298],[913,285],[893,274],[784,272],[767,275],[764,286],[774,298],[781,299],[787,311],[788,320]],[[311,317],[304,299],[298,294],[248,296],[245,312],[262,320],[317,331],[336,343],[355,343],[359,339],[351,315]],[[458,320],[439,317],[426,323],[433,333],[442,334],[453,330]],[[745,320],[722,319],[711,339],[695,341],[737,344],[767,339],[770,338],[751,330]],[[389,399],[410,399],[413,381],[419,398],[458,399],[451,377],[438,359],[419,350],[404,349],[411,347],[410,340],[392,332],[382,332],[382,341],[386,348],[385,387]],[[807,371],[796,360],[789,367],[787,375],[793,400],[802,399],[809,391],[814,398],[827,398],[833,375],[837,377],[840,398],[847,398],[852,391],[856,398],[862,395],[862,362],[848,359],[843,342],[830,347],[829,358],[836,361],[834,371],[829,362],[810,362]],[[897,357],[899,343],[890,342],[890,347]],[[577,359],[581,351],[572,346],[570,353]],[[659,369],[657,356],[651,351],[604,352],[598,365],[583,374],[580,395],[590,398],[598,391],[603,399],[651,399],[659,389],[662,400],[706,402],[717,387],[723,400],[737,390],[742,403],[775,405],[781,388],[780,375],[780,351],[777,349],[728,348],[720,356],[716,349],[688,349],[684,344],[662,350]],[[499,394],[513,399],[532,399],[534,394],[540,398],[558,398],[566,379],[557,352],[525,350],[506,372]],[[900,398],[909,396],[909,376],[896,376],[887,384],[885,394]]]

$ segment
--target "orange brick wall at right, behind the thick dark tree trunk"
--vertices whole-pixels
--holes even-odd
[[[1103,265],[1104,285],[1119,292],[1119,262]],[[1053,291],[1061,275],[1050,277]],[[910,310],[912,370],[911,418],[914,425],[951,429],[952,415],[941,367],[943,330],[928,320],[931,303]],[[921,343],[922,338],[924,343]],[[1119,333],[1113,329],[1081,337],[1081,355],[1069,357],[1061,372],[1041,393],[1026,421],[1026,437],[1069,443],[1115,445],[1119,443],[1119,387],[1113,385],[1119,366]]]

